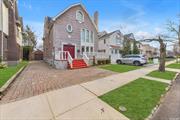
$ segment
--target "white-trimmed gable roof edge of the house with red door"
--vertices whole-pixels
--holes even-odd
[[[76,3],[76,4],[73,4],[71,6],[69,6],[68,8],[66,8],[65,10],[63,10],[62,12],[60,12],[58,15],[56,15],[55,17],[52,18],[53,21],[56,21],[61,15],[63,15],[66,11],[68,11],[69,9],[71,9],[72,7],[76,7],[76,6],[81,6],[83,8],[83,10],[87,13],[90,21],[92,22],[92,24],[94,25],[94,27],[96,28],[96,30],[98,31],[97,29],[97,26],[96,24],[94,23],[94,21],[92,20],[91,16],[89,15],[89,13],[87,12],[86,8],[84,7],[84,5],[82,3]]]

